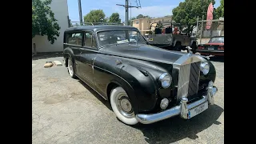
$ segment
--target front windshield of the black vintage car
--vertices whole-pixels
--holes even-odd
[[[98,32],[99,46],[123,43],[145,43],[138,30],[107,30]]]

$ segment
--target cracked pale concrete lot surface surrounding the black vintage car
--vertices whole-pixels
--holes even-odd
[[[150,125],[126,126],[106,102],[66,67],[43,68],[61,55],[32,60],[32,142],[36,143],[224,143],[224,62],[214,58],[218,77],[215,105],[191,118],[169,118]],[[220,61],[220,62],[219,62]]]

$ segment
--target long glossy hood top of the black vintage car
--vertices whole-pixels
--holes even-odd
[[[134,58],[151,62],[173,64],[186,53],[164,50],[146,44],[118,44],[106,46],[99,50],[103,54],[111,54],[119,57]]]

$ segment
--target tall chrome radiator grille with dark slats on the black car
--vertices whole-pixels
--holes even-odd
[[[194,62],[180,67],[178,74],[178,99],[182,98],[182,96],[189,97],[198,93],[199,66],[200,62]]]

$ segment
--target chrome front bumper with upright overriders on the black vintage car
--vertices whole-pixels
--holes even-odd
[[[141,122],[142,124],[150,124],[162,121],[166,118],[171,118],[176,115],[180,115],[181,118],[188,119],[188,111],[194,107],[199,106],[206,101],[208,101],[210,105],[214,105],[214,94],[216,94],[218,91],[217,87],[213,86],[212,82],[209,82],[206,90],[207,95],[203,95],[202,98],[196,102],[187,104],[188,99],[186,97],[182,97],[180,105],[178,106],[174,106],[169,110],[165,110],[157,114],[136,114],[136,118],[138,119],[138,122]]]

